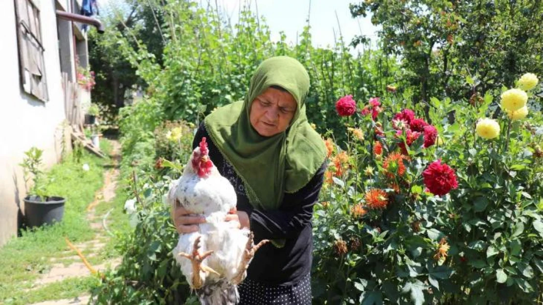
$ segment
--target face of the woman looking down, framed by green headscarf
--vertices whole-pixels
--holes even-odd
[[[251,102],[249,120],[258,134],[271,137],[287,130],[296,109],[296,100],[290,93],[268,88]]]

